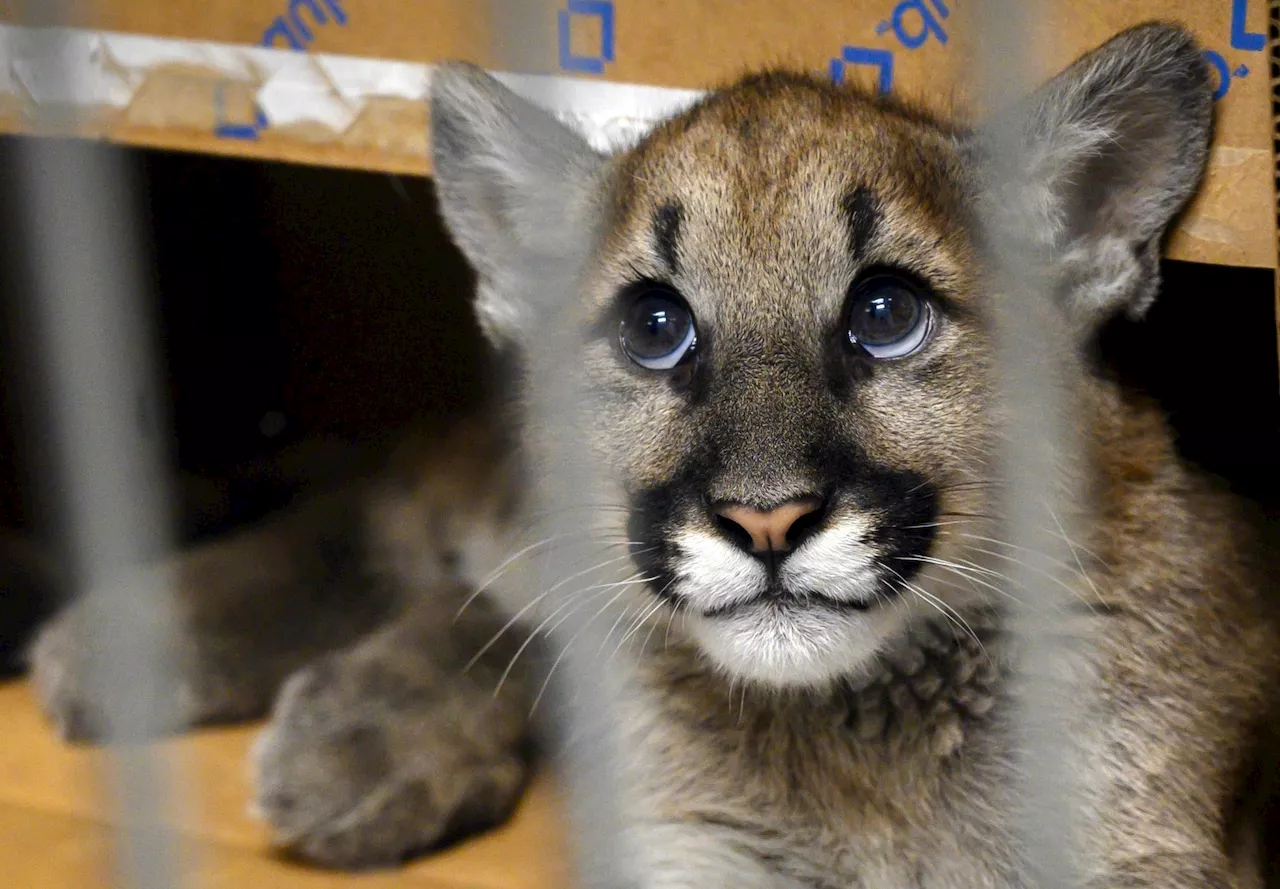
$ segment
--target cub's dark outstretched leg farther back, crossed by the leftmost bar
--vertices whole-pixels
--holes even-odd
[[[392,614],[399,594],[372,568],[364,496],[358,487],[338,491],[145,569],[164,572],[174,595],[168,729],[262,715],[289,673]],[[143,625],[154,620],[147,602],[116,586],[88,591],[40,631],[32,679],[68,739],[101,732],[84,654],[91,596],[136,609]]]

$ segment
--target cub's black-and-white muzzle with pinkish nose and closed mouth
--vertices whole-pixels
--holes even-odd
[[[814,441],[815,455],[851,449]],[[814,477],[827,475],[822,459]],[[817,492],[787,500],[713,500],[707,481],[639,492],[631,539],[654,595],[705,618],[753,613],[859,614],[886,605],[919,573],[936,537],[937,489],[910,469],[837,469]]]

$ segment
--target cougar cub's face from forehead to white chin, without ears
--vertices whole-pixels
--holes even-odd
[[[938,528],[989,512],[955,139],[767,75],[660,128],[611,185],[589,376],[653,595],[735,674],[856,669],[954,599],[924,578],[965,558]]]

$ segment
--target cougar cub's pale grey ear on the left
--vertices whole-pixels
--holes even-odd
[[[521,279],[590,237],[589,200],[603,157],[475,65],[436,68],[430,105],[444,221],[479,272],[485,333],[512,338],[538,295]]]

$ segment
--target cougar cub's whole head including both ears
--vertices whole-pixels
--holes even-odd
[[[1211,101],[1194,42],[1152,24],[1010,111],[1025,178],[996,210],[1043,251],[1073,340],[1151,298]],[[965,568],[998,527],[983,129],[796,74],[616,156],[470,67],[436,73],[431,111],[486,330],[518,349],[532,319],[581,324],[563,361],[602,394],[649,595],[716,663],[822,683],[984,594]],[[573,287],[539,285],[557,264]]]

